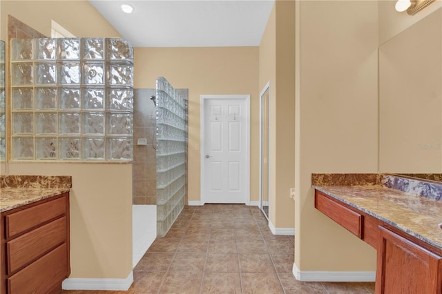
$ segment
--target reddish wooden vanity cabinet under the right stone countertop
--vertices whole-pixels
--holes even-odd
[[[441,250],[318,190],[315,207],[376,249],[376,294],[442,294]]]

